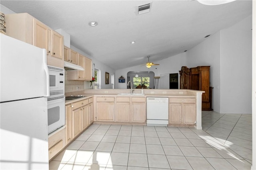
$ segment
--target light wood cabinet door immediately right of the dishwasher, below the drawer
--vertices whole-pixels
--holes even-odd
[[[169,123],[181,124],[181,104],[170,103],[169,104]]]

